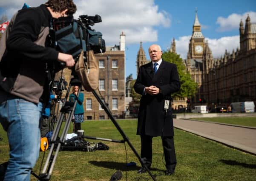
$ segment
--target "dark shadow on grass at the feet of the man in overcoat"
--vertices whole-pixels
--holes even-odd
[[[97,162],[97,161],[90,161],[90,164],[93,164],[97,167],[105,167],[109,169],[115,169],[115,170],[121,170],[121,171],[133,171],[133,170],[139,170],[141,167],[140,166],[131,166],[127,167],[126,163],[120,163],[120,162]],[[157,168],[151,168],[152,171],[162,171],[164,170],[159,170]]]

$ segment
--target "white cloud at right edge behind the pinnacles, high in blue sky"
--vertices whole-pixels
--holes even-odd
[[[249,14],[250,22],[256,22],[256,12],[249,11],[244,14],[230,14],[227,18],[225,17],[218,17],[217,24],[220,25],[219,28],[217,28],[217,31],[230,31],[233,29],[239,29],[239,24],[242,19],[244,25],[245,25],[245,19],[247,18],[247,15]]]

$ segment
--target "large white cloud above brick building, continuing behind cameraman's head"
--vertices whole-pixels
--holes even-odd
[[[9,18],[27,3],[29,6],[39,6],[47,0],[1,0],[0,6],[6,7]],[[126,43],[155,42],[158,39],[157,26],[170,27],[170,14],[159,11],[154,0],[74,0],[77,12],[74,17],[88,14],[99,14],[102,22],[92,28],[101,31],[106,45],[119,44],[119,35],[123,31]],[[10,11],[12,10],[12,11]]]

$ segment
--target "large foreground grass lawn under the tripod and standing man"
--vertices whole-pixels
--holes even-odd
[[[227,119],[227,118],[226,118]],[[140,137],[136,135],[136,120],[118,120],[124,133],[140,154]],[[122,139],[118,130],[111,121],[86,121],[81,124],[85,135]],[[71,131],[71,128],[70,128]],[[70,132],[69,131],[69,132]],[[0,162],[9,159],[9,145],[6,132],[0,126]],[[164,175],[163,149],[161,138],[153,139],[152,174],[158,181],[255,181],[256,156],[228,148],[219,143],[198,137],[196,135],[175,129],[175,150],[177,167],[172,176]],[[90,142],[104,142],[109,150],[95,152],[60,151],[52,173],[52,181],[109,181],[116,170],[123,173],[122,181],[152,180],[148,173],[137,174],[140,163],[126,143],[89,140]],[[46,151],[46,155],[47,155]],[[34,168],[39,173],[43,152]],[[134,167],[127,167],[126,162],[136,162]],[[31,176],[32,181],[37,179]]]

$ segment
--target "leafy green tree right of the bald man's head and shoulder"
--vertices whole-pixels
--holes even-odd
[[[172,97],[193,97],[197,91],[197,84],[191,79],[191,75],[186,71],[185,64],[180,58],[180,55],[165,51],[162,55],[164,61],[174,63],[178,69],[178,75],[181,82],[181,89],[179,92],[172,94]]]

